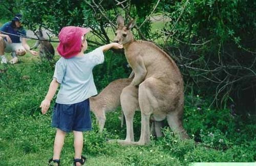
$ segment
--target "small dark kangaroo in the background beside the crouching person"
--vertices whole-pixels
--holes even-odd
[[[53,59],[54,57],[54,48],[50,41],[45,41],[45,37],[42,35],[42,30],[39,28],[39,30],[35,33],[35,35],[38,37],[38,41],[35,43],[35,45],[30,49],[36,49],[39,46],[39,56],[41,58],[47,58],[49,61]]]

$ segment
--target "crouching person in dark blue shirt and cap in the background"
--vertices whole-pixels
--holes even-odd
[[[5,23],[0,29],[1,64],[8,62],[7,58],[5,57],[5,53],[11,53],[12,59],[10,60],[10,63],[12,64],[18,62],[18,58],[16,55],[24,56],[26,54],[26,50],[32,55],[38,55],[36,51],[30,50],[26,38],[20,37],[27,35],[26,30],[21,26],[21,17],[21,14],[16,14],[11,22]]]

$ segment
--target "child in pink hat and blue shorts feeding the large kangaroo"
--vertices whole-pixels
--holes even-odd
[[[56,127],[53,158],[49,164],[59,165],[60,152],[67,132],[74,134],[74,165],[82,165],[86,158],[81,156],[83,148],[83,131],[92,130],[89,98],[97,94],[93,80],[93,67],[103,63],[103,51],[111,48],[122,49],[118,43],[103,45],[88,54],[86,34],[89,29],[80,27],[64,27],[59,33],[57,51],[61,58],[57,61],[53,80],[41,111],[47,112],[50,102],[60,85],[56,103],[53,108],[52,127]]]

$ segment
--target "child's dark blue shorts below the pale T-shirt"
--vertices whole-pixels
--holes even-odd
[[[75,104],[55,103],[52,127],[65,132],[92,130],[89,99]]]

